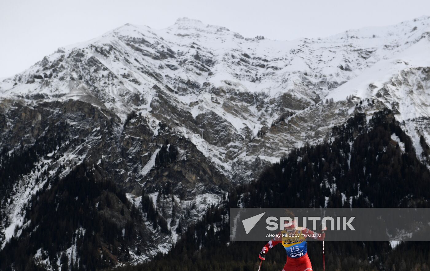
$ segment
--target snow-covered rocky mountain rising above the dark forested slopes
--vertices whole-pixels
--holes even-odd
[[[32,195],[82,163],[139,210],[142,193],[151,198],[171,233],[147,242],[165,251],[181,218],[198,219],[229,187],[255,179],[292,148],[330,140],[356,112],[393,110],[426,161],[429,82],[427,16],[292,41],[180,18],[166,29],[126,24],[59,48],[0,82],[3,155],[22,155],[62,131],[61,146],[8,175],[1,247],[31,227]],[[133,255],[126,262],[151,256]]]

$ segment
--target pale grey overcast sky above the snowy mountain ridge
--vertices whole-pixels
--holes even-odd
[[[160,29],[188,17],[244,37],[294,40],[422,15],[430,0],[0,0],[0,78],[125,23]]]

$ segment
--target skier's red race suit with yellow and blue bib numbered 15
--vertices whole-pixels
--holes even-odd
[[[267,243],[261,251],[265,253],[277,244],[282,244],[287,252],[287,262],[283,271],[310,271],[312,265],[309,256],[307,256],[306,238],[323,240],[325,233],[317,234],[308,228],[301,228],[293,233],[288,231],[279,231],[277,237]]]

